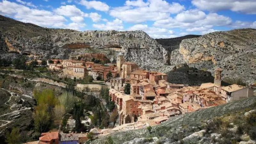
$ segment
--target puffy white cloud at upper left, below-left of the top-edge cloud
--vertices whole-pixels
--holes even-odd
[[[64,15],[67,17],[72,16],[84,16],[84,12],[76,7],[76,5],[62,5],[59,8],[53,10],[58,15]]]

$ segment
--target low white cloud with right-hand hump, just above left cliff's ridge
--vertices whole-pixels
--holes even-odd
[[[102,29],[102,30],[123,30],[123,21],[115,19],[112,22],[107,22],[106,24],[93,24],[93,28]]]

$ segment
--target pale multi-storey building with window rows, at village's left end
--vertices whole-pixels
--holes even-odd
[[[86,75],[86,72],[86,67],[84,66],[67,66],[67,68],[63,69],[63,74],[71,79],[75,77],[82,79]]]

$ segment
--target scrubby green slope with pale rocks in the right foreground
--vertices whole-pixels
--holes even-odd
[[[255,144],[256,97],[231,102],[193,113],[171,117],[168,121],[147,129],[116,132],[92,143],[141,144]]]

